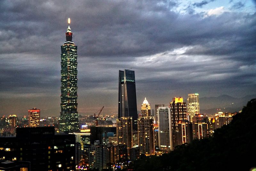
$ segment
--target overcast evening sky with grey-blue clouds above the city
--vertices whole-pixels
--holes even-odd
[[[138,110],[172,97],[256,94],[253,0],[1,0],[0,115],[60,114],[67,19],[78,46],[78,112],[117,113],[118,70]],[[200,106],[204,108],[204,106]]]

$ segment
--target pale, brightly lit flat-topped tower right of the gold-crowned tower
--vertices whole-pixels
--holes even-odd
[[[188,94],[187,99],[187,105],[188,105],[188,119],[192,122],[192,118],[195,116],[195,114],[200,113],[199,109],[199,94],[198,93],[191,93]]]

